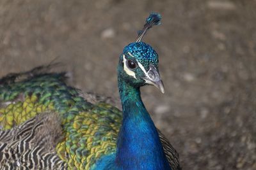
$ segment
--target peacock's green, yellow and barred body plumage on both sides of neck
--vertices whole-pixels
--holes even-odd
[[[66,85],[65,73],[45,70],[0,80],[0,169],[90,169],[116,152],[122,111],[99,97],[92,104]],[[180,169],[178,153],[159,137],[170,166]]]

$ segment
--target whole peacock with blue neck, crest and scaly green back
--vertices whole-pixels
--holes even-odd
[[[164,93],[157,52],[141,41],[160,21],[150,13],[119,57],[122,111],[67,85],[56,64],[1,78],[0,169],[181,169],[140,96],[144,85]]]

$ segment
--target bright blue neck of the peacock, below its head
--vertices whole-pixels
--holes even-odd
[[[118,77],[123,121],[118,134],[116,166],[120,169],[170,169],[156,127],[134,88]]]

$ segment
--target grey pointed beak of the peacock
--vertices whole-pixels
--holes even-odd
[[[146,77],[143,79],[146,83],[156,86],[164,94],[164,84],[156,67],[150,65]]]

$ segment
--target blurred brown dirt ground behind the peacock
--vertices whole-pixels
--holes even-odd
[[[142,89],[183,169],[256,169],[256,1],[0,1],[0,76],[56,59],[72,85],[118,99],[118,55],[150,11],[166,94]]]

